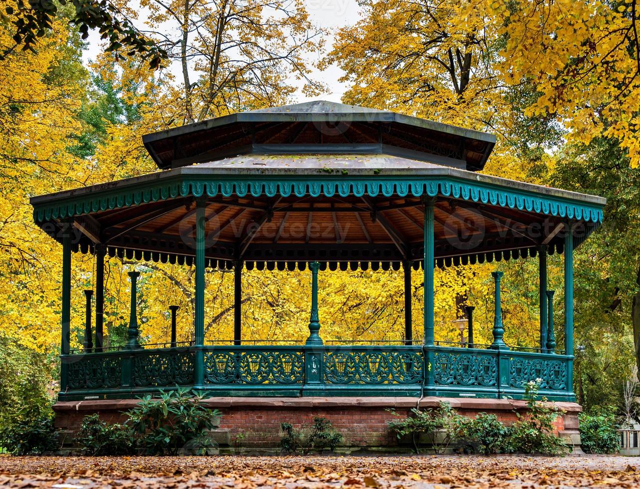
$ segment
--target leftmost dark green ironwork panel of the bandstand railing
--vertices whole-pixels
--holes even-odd
[[[71,356],[65,359],[68,366],[68,389],[105,389],[120,386],[120,357]]]

